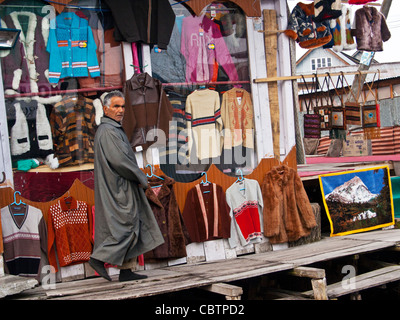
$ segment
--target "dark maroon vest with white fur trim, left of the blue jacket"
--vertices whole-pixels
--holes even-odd
[[[14,92],[49,92],[53,89],[46,77],[49,54],[46,43],[49,20],[32,12],[11,12],[2,18],[2,27],[21,30],[12,50],[1,52],[4,90]]]

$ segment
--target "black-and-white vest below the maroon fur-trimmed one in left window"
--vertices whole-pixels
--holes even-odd
[[[52,154],[53,138],[46,108],[31,100],[6,102],[13,160],[46,158]]]

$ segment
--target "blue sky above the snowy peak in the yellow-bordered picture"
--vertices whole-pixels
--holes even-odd
[[[384,170],[386,169],[379,169],[377,172],[374,172],[374,170],[367,170],[321,177],[324,193],[327,195],[332,192],[333,189],[353,179],[355,176],[358,176],[364,182],[369,191],[372,193],[380,193],[383,188]]]

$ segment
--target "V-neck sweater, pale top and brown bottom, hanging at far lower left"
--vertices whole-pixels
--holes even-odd
[[[47,264],[47,230],[42,211],[30,205],[1,208],[6,272],[39,278]]]

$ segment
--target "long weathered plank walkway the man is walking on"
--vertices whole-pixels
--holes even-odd
[[[304,276],[301,275],[301,268],[307,265],[351,255],[395,248],[399,244],[400,229],[371,231],[342,237],[323,238],[311,244],[291,247],[280,251],[249,254],[231,260],[185,264],[139,271],[138,273],[148,275],[147,279],[139,281],[121,283],[118,282],[117,278],[114,278],[112,282],[108,282],[102,278],[91,278],[57,283],[55,289],[44,290],[42,287],[37,287],[10,298],[122,300],[149,297],[192,288],[203,288],[224,294],[233,299],[235,296],[240,299],[241,288],[230,285],[230,282],[281,271],[291,271],[292,273],[296,273],[297,271],[297,275]],[[400,280],[399,267],[389,267],[389,269],[382,269],[384,270],[382,272],[394,272],[392,273],[393,277],[389,276],[383,282]],[[305,276],[313,278],[312,275]],[[325,281],[325,279],[321,280]],[[375,285],[381,285],[383,282],[382,280],[377,280]],[[372,286],[374,286],[374,283],[372,283]],[[330,289],[331,296],[329,296]],[[326,292],[327,298],[340,295],[335,294],[336,291],[334,290],[335,287],[329,288],[328,286]],[[304,296],[307,296],[307,294],[308,296],[312,296],[310,292],[304,293]],[[346,293],[342,292],[341,294]]]

